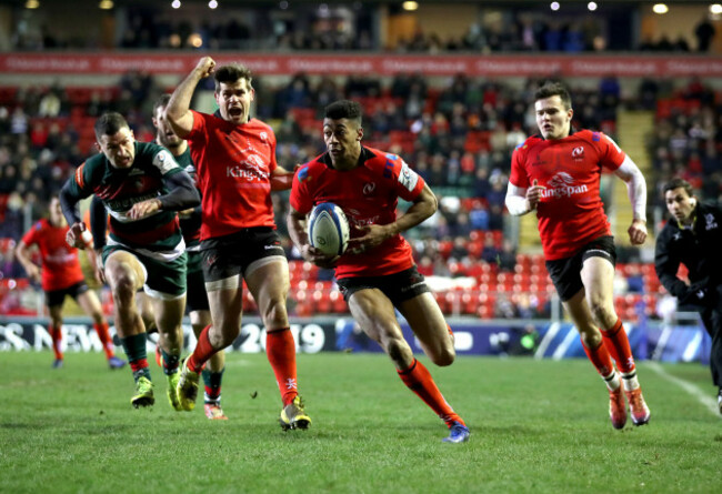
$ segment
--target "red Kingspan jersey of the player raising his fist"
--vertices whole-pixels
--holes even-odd
[[[253,226],[275,228],[271,173],[275,134],[257,119],[242,125],[193,113],[188,135],[202,196],[201,240]]]

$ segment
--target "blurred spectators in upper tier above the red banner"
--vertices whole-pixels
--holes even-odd
[[[285,4],[285,7],[283,7]],[[600,52],[655,51],[706,52],[715,27],[706,19],[691,37],[634,39],[614,24],[624,16],[608,6],[605,12],[584,12],[585,6],[566,13],[551,12],[546,6],[530,9],[508,6],[472,19],[458,34],[440,34],[418,26],[411,33],[383,46],[374,36],[374,12],[361,2],[343,6],[291,6],[278,9],[248,7],[238,11],[172,14],[160,6],[129,6],[116,18],[119,28],[111,41],[96,31],[68,33],[48,23],[19,22],[10,39],[13,50],[128,49],[128,50],[389,50],[408,53],[439,52]],[[569,7],[568,7],[569,9]],[[399,13],[399,12],[395,12]],[[392,16],[394,13],[392,12]]]

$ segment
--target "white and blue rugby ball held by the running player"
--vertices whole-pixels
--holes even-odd
[[[325,255],[341,255],[349,245],[349,220],[332,202],[321,202],[308,221],[309,242]]]

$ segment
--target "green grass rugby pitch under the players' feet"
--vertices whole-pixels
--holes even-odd
[[[0,353],[0,492],[454,493],[720,492],[722,420],[680,381],[641,363],[651,424],[614,431],[606,393],[583,360],[424,360],[472,431],[441,442],[441,421],[379,354],[299,355],[313,419],[284,433],[264,355],[228,356],[230,420],[129,404],[128,370],[101,354]],[[712,396],[700,364],[662,370]],[[255,399],[251,395],[258,393]]]

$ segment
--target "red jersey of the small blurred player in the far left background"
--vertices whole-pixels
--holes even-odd
[[[53,226],[48,220],[37,222],[23,236],[22,242],[37,244],[42,260],[42,290],[64,290],[86,281],[78,260],[78,249],[66,243],[70,226]]]

